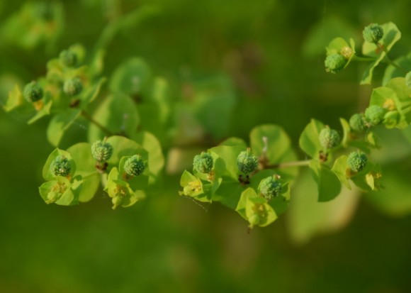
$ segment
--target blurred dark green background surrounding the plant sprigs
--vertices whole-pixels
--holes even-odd
[[[16,17],[25,5],[44,19],[57,5],[59,21],[33,37],[42,28]],[[325,45],[337,36],[359,44],[365,25],[393,21],[402,31],[393,57],[411,48],[407,0],[0,0],[1,103],[15,82],[45,74],[60,50],[94,50],[107,23],[133,11],[145,12],[106,44],[106,76],[143,57],[171,81],[176,103],[187,84],[228,77],[235,108],[211,117],[227,125],[221,138],[278,123],[302,159],[298,136],[310,118],[339,129],[339,117],[363,110],[371,93],[358,85],[366,65],[325,72]],[[409,129],[380,130],[385,143],[373,155],[384,164],[383,192],[344,190],[317,204],[303,171],[289,211],[247,233],[235,211],[179,197],[179,173],[128,209],[113,211],[102,191],[79,206],[47,206],[38,194],[53,149],[46,126],[0,111],[0,292],[411,292]],[[75,142],[84,125],[74,131]],[[220,139],[205,138],[199,148]]]

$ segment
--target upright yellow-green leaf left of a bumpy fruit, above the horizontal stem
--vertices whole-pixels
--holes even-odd
[[[308,126],[304,128],[300,136],[300,148],[310,157],[317,159],[320,157],[322,147],[320,145],[320,131],[324,128],[324,124],[315,119],[311,119]]]

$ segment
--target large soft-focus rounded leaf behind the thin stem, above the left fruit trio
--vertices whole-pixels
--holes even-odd
[[[123,94],[108,96],[98,106],[93,118],[111,133],[125,133],[126,136],[133,136],[139,123],[133,100]],[[104,136],[107,136],[107,133],[93,123],[90,124],[89,141],[96,141]]]

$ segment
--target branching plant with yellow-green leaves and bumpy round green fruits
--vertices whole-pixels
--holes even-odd
[[[72,126],[86,123],[88,142],[74,143],[66,150],[56,148],[45,162],[46,182],[40,186],[40,196],[47,204],[90,201],[102,188],[113,209],[132,206],[161,182],[166,164],[163,149],[169,154],[184,153],[184,148],[208,140],[222,143],[214,147],[207,143],[208,150],[201,154],[193,148],[193,154],[197,153],[193,160],[182,155],[184,160],[171,162],[169,155],[167,169],[181,170],[181,197],[219,201],[237,211],[249,228],[267,226],[288,209],[298,167],[310,170],[320,202],[334,200],[352,189],[352,184],[364,191],[381,189],[381,166],[365,154],[379,146],[375,127],[405,129],[411,122],[409,55],[398,58],[398,64],[388,57],[400,39],[395,24],[373,23],[364,28],[362,55],[356,52],[352,38],[349,43],[334,38],[327,45],[327,72],[341,72],[354,61],[371,62],[361,84],[371,84],[373,70],[380,63],[389,66],[384,85],[373,89],[364,112],[352,115],[349,122],[340,118],[342,132],[311,119],[298,141],[308,160],[298,160],[295,145],[281,126],[252,128],[249,143],[228,137],[232,126],[219,117],[230,119],[237,97],[235,83],[225,74],[198,79],[186,74],[176,87],[174,79],[157,76],[142,57],[126,57],[106,72],[103,57],[108,43],[136,21],[133,17],[152,13],[147,11],[110,23],[92,52],[79,44],[62,50],[47,62],[45,74],[36,77],[38,82],[26,85],[23,94],[18,84],[9,92],[6,111],[30,107],[35,114],[28,123],[50,116],[47,139],[55,147],[67,145]],[[50,13],[33,19],[50,23],[54,17]],[[11,21],[9,26],[16,24]],[[103,72],[108,78],[101,76]],[[180,86],[181,96],[176,97],[174,91]],[[185,170],[191,162],[192,170]]]

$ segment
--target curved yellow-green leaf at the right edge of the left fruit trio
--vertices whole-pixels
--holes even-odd
[[[152,133],[141,131],[133,136],[133,140],[142,145],[148,152],[148,165],[150,166],[149,184],[154,183],[162,174],[164,155],[159,140]]]

